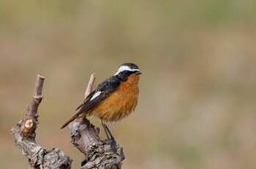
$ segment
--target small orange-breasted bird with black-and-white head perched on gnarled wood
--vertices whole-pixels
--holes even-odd
[[[105,79],[96,87],[96,90],[93,90],[85,98],[82,104],[77,107],[77,113],[64,123],[61,129],[84,113],[85,116],[95,115],[101,119],[106,134],[108,132],[110,137],[113,138],[103,122],[120,121],[134,111],[138,103],[140,74],[141,71],[138,65],[134,63],[120,65],[115,75]]]

